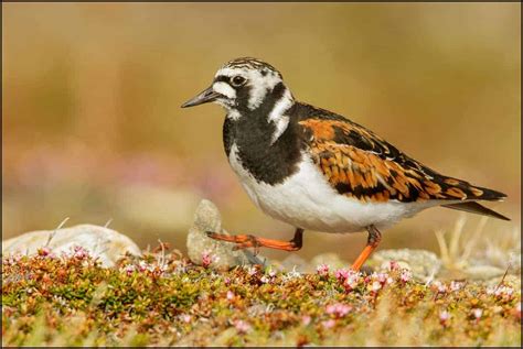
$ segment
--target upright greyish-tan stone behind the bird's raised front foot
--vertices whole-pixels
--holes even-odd
[[[207,231],[228,235],[222,229],[222,216],[216,206],[203,199],[194,212],[194,222],[189,229],[186,247],[189,259],[199,265],[209,263],[210,268],[223,270],[235,265],[265,264],[266,259],[254,255],[253,249],[234,251],[234,243],[216,241],[207,237]]]

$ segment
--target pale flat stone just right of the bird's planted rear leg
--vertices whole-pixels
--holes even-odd
[[[372,254],[367,264],[374,269],[383,270],[391,261],[397,262],[399,268],[408,269],[413,273],[413,277],[421,282],[430,280],[441,269],[441,261],[435,253],[410,249],[377,251]]]

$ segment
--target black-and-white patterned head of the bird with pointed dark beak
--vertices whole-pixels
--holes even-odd
[[[292,100],[281,74],[271,65],[256,58],[236,58],[223,65],[212,85],[188,100],[182,108],[216,102],[230,112],[248,112],[275,103]]]

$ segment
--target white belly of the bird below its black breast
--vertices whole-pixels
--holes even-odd
[[[362,203],[338,194],[309,156],[284,183],[258,183],[242,166],[233,144],[230,163],[250,199],[265,214],[297,228],[324,232],[355,232],[374,225],[386,228],[434,203]]]

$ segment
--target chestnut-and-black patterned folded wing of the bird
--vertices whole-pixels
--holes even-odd
[[[316,165],[340,194],[365,201],[403,203],[505,196],[440,175],[364,127],[327,110],[314,111],[316,116],[298,123]]]

